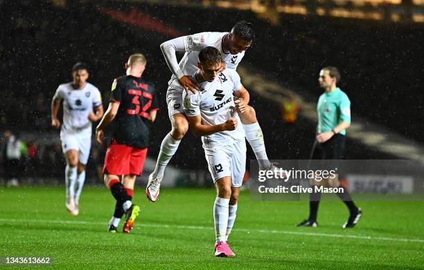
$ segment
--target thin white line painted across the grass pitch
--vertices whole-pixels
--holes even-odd
[[[23,219],[10,219],[0,218],[0,222],[33,222],[33,223],[55,223],[55,224],[89,224],[89,225],[107,225],[107,222],[90,222],[78,220],[23,220]],[[212,230],[212,226],[187,226],[187,225],[168,225],[168,224],[146,224],[141,223],[137,226],[145,227],[161,227],[161,228],[177,228],[177,229],[196,229],[196,230]],[[300,231],[279,231],[279,230],[263,230],[263,229],[233,229],[233,231],[243,231],[246,233],[281,233],[291,235],[312,235],[327,238],[352,238],[363,240],[378,240],[378,241],[397,241],[397,242],[418,242],[424,243],[424,239],[419,238],[388,238],[388,237],[373,237],[366,235],[344,235],[334,233],[308,233]]]

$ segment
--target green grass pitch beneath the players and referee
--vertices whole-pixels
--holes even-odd
[[[236,258],[214,258],[213,189],[163,189],[132,233],[107,233],[114,199],[86,187],[80,215],[64,208],[64,187],[0,188],[0,257],[50,256],[48,266],[1,269],[424,269],[424,202],[358,200],[364,215],[342,229],[348,211],[321,202],[319,228],[297,228],[308,202],[252,201],[240,194],[229,242]],[[120,231],[122,230],[122,223]]]

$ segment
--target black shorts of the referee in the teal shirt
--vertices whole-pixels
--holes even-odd
[[[321,162],[321,166],[330,169],[338,168],[339,160],[343,159],[345,144],[346,136],[342,134],[335,134],[323,143],[315,141],[310,155],[311,160],[327,160],[327,162]]]

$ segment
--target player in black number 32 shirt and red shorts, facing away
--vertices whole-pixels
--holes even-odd
[[[159,110],[153,84],[141,77],[147,61],[144,55],[131,55],[125,64],[127,75],[115,79],[109,108],[96,128],[96,139],[103,143],[105,128],[116,122],[112,142],[107,148],[105,184],[116,199],[109,231],[116,232],[125,213],[123,232],[129,233],[140,207],[132,204],[137,175],[141,175],[149,145],[148,122],[154,122]],[[120,179],[121,177],[121,179]]]

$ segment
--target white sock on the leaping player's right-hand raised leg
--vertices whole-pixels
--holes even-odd
[[[243,124],[243,128],[245,129],[247,142],[249,142],[256,155],[256,160],[258,160],[259,169],[269,169],[272,164],[267,157],[265,142],[263,142],[263,133],[259,123],[256,122],[254,124]]]

